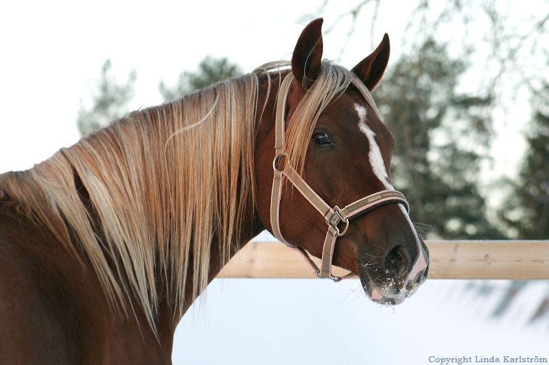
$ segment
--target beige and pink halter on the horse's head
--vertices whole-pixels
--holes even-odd
[[[276,125],[275,125],[275,139],[274,139],[274,148],[276,154],[274,155],[274,160],[272,160],[272,169],[274,170],[274,176],[272,179],[272,191],[270,199],[270,225],[272,227],[272,233],[277,237],[281,242],[284,242],[288,247],[298,250],[309,265],[314,270],[314,274],[317,277],[327,277],[334,281],[340,281],[341,279],[347,279],[349,277],[355,276],[353,273],[349,273],[343,277],[334,276],[331,273],[331,262],[334,257],[334,247],[336,246],[336,240],[338,237],[344,236],[349,228],[349,219],[358,216],[359,214],[364,214],[370,212],[377,207],[388,203],[400,203],[406,207],[406,210],[409,211],[410,207],[406,197],[401,192],[397,190],[382,190],[376,192],[375,194],[368,195],[362,199],[358,199],[349,205],[346,205],[343,208],[335,205],[330,207],[316,192],[305,182],[303,177],[297,173],[290,163],[286,161],[281,163],[279,160],[285,159],[288,160],[288,155],[284,151],[284,131],[285,131],[285,108],[286,101],[288,99],[288,90],[290,89],[290,84],[293,79],[292,73],[288,75],[282,81],[282,84],[279,88],[277,95],[277,114],[276,114]],[[360,90],[364,99],[372,105],[374,110],[375,103],[370,93],[358,82],[353,81],[353,84],[357,86]],[[282,164],[283,168],[280,169],[279,166]],[[286,241],[280,230],[280,201],[282,194],[282,177],[285,176],[296,188],[299,190],[301,195],[311,203],[311,205],[324,217],[325,223],[327,225],[326,238],[324,240],[323,251],[322,251],[322,263],[320,268],[311,260],[309,254],[303,247],[296,247],[290,242]]]

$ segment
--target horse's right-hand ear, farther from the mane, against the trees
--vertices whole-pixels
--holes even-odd
[[[353,67],[353,73],[357,75],[366,88],[372,91],[380,79],[382,79],[387,63],[389,62],[389,36],[385,34],[382,42],[368,57]]]

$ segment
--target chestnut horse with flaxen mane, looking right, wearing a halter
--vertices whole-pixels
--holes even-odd
[[[351,71],[321,18],[291,62],[137,110],[0,175],[0,363],[170,364],[191,303],[267,229],[397,304],[428,250],[390,183],[394,140],[370,92],[385,34]],[[340,208],[342,206],[342,208]]]

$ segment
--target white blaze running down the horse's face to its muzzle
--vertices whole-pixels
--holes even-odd
[[[393,185],[390,184],[389,177],[385,169],[385,163],[383,161],[382,152],[379,149],[377,142],[375,142],[375,133],[366,124],[366,108],[364,108],[362,105],[359,105],[358,103],[355,103],[355,110],[358,113],[358,119],[359,119],[358,129],[360,129],[360,131],[362,131],[362,133],[366,136],[366,138],[368,138],[368,142],[370,144],[370,151],[368,153],[368,158],[370,160],[373,173],[387,190],[395,190],[395,188],[393,188]],[[419,249],[418,258],[414,263],[412,270],[410,270],[408,277],[406,277],[406,281],[411,281],[416,278],[418,273],[425,270],[425,268],[427,267],[427,262],[425,260],[425,257],[426,257],[425,252],[423,251],[423,247],[421,247],[421,241],[419,240],[419,236],[417,236],[417,231],[414,228],[412,221],[410,220],[410,216],[408,215],[406,208],[402,204],[399,204],[399,207],[402,214],[404,214],[404,216],[406,217],[406,221],[408,221],[408,225],[410,226],[410,229],[414,234],[414,238],[417,242],[417,247]]]

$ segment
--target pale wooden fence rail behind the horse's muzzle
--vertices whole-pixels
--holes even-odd
[[[428,241],[432,279],[549,279],[549,241]],[[318,261],[317,261],[318,262]],[[345,273],[335,268],[336,275]],[[249,242],[218,277],[314,277],[280,242]]]

